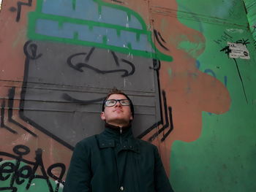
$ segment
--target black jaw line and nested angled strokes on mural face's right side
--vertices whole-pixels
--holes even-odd
[[[153,134],[149,139],[148,142],[153,142],[154,139],[156,139],[159,134],[161,134],[163,131],[165,131],[166,128],[169,127],[168,131],[163,134],[162,138],[161,138],[161,142],[164,142],[165,139],[169,136],[169,134],[171,133],[171,131],[173,131],[173,115],[172,115],[172,107],[167,107],[167,99],[166,99],[166,93],[165,91],[162,91],[162,98],[164,101],[164,111],[165,111],[165,124],[164,124],[164,120],[163,120],[163,115],[162,115],[162,99],[161,99],[161,94],[160,94],[160,85],[159,85],[159,69],[161,67],[161,63],[160,61],[157,61],[156,59],[153,59],[153,67],[150,67],[150,69],[154,69],[157,72],[157,82],[158,82],[158,88],[159,88],[159,101],[160,101],[160,117],[161,120],[159,120],[157,123],[154,123],[152,126],[150,126],[149,128],[146,129],[146,131],[143,131],[142,134],[140,134],[138,136],[139,139],[141,139],[142,137],[146,136],[146,134],[148,134],[150,131],[152,131],[154,128],[157,128],[158,126],[162,125],[162,128],[159,128],[159,130],[157,130],[157,133]],[[168,110],[167,110],[168,109]],[[169,118],[168,118],[168,114],[169,114]]]

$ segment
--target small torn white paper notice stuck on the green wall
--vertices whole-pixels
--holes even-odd
[[[246,45],[241,43],[233,43],[227,42],[227,45],[230,47],[230,58],[244,58],[249,59],[249,50],[247,49]]]

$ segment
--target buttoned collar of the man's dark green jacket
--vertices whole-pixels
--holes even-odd
[[[99,148],[118,147],[118,151],[132,150],[140,153],[138,140],[132,135],[131,124],[129,123],[122,129],[123,131],[120,133],[120,127],[105,123],[105,131],[97,136]],[[120,139],[123,140],[122,143],[120,143]]]

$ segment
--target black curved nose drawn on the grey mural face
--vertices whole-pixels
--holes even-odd
[[[94,52],[94,49],[95,47],[92,47],[91,50],[89,51],[89,54],[87,53],[75,53],[73,55],[70,55],[68,58],[67,58],[67,64],[68,66],[70,66],[71,68],[75,69],[75,70],[78,70],[78,72],[83,72],[83,69],[81,69],[82,67],[85,67],[87,69],[91,69],[92,71],[94,72],[97,72],[99,74],[108,74],[108,73],[116,73],[116,72],[123,72],[123,74],[121,74],[121,77],[128,77],[132,74],[135,73],[135,65],[132,64],[132,62],[130,61],[127,61],[126,59],[124,58],[121,58],[121,61],[123,61],[125,64],[128,64],[129,66],[131,66],[132,70],[130,72],[127,71],[127,69],[115,69],[115,70],[100,70],[100,69],[97,69],[96,67],[94,66],[91,66],[89,64],[86,64],[92,53]],[[114,58],[114,61],[116,62],[116,65],[119,66],[119,58],[116,56],[116,54],[111,51],[111,54],[113,55],[113,58]],[[86,55],[86,59],[85,59],[85,62],[86,63],[78,63],[78,64],[72,64],[72,59],[75,58],[76,56],[78,55]]]

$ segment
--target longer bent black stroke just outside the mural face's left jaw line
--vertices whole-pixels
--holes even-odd
[[[8,121],[10,123],[14,123],[16,126],[19,126],[20,128],[23,128],[23,130],[27,131],[29,134],[31,134],[34,137],[37,137],[37,134],[34,134],[32,131],[29,130],[29,128],[26,128],[25,126],[18,123],[16,120],[12,118],[12,108],[13,108],[13,102],[14,102],[14,96],[15,96],[15,87],[10,88],[8,93],[9,99],[8,99]]]

